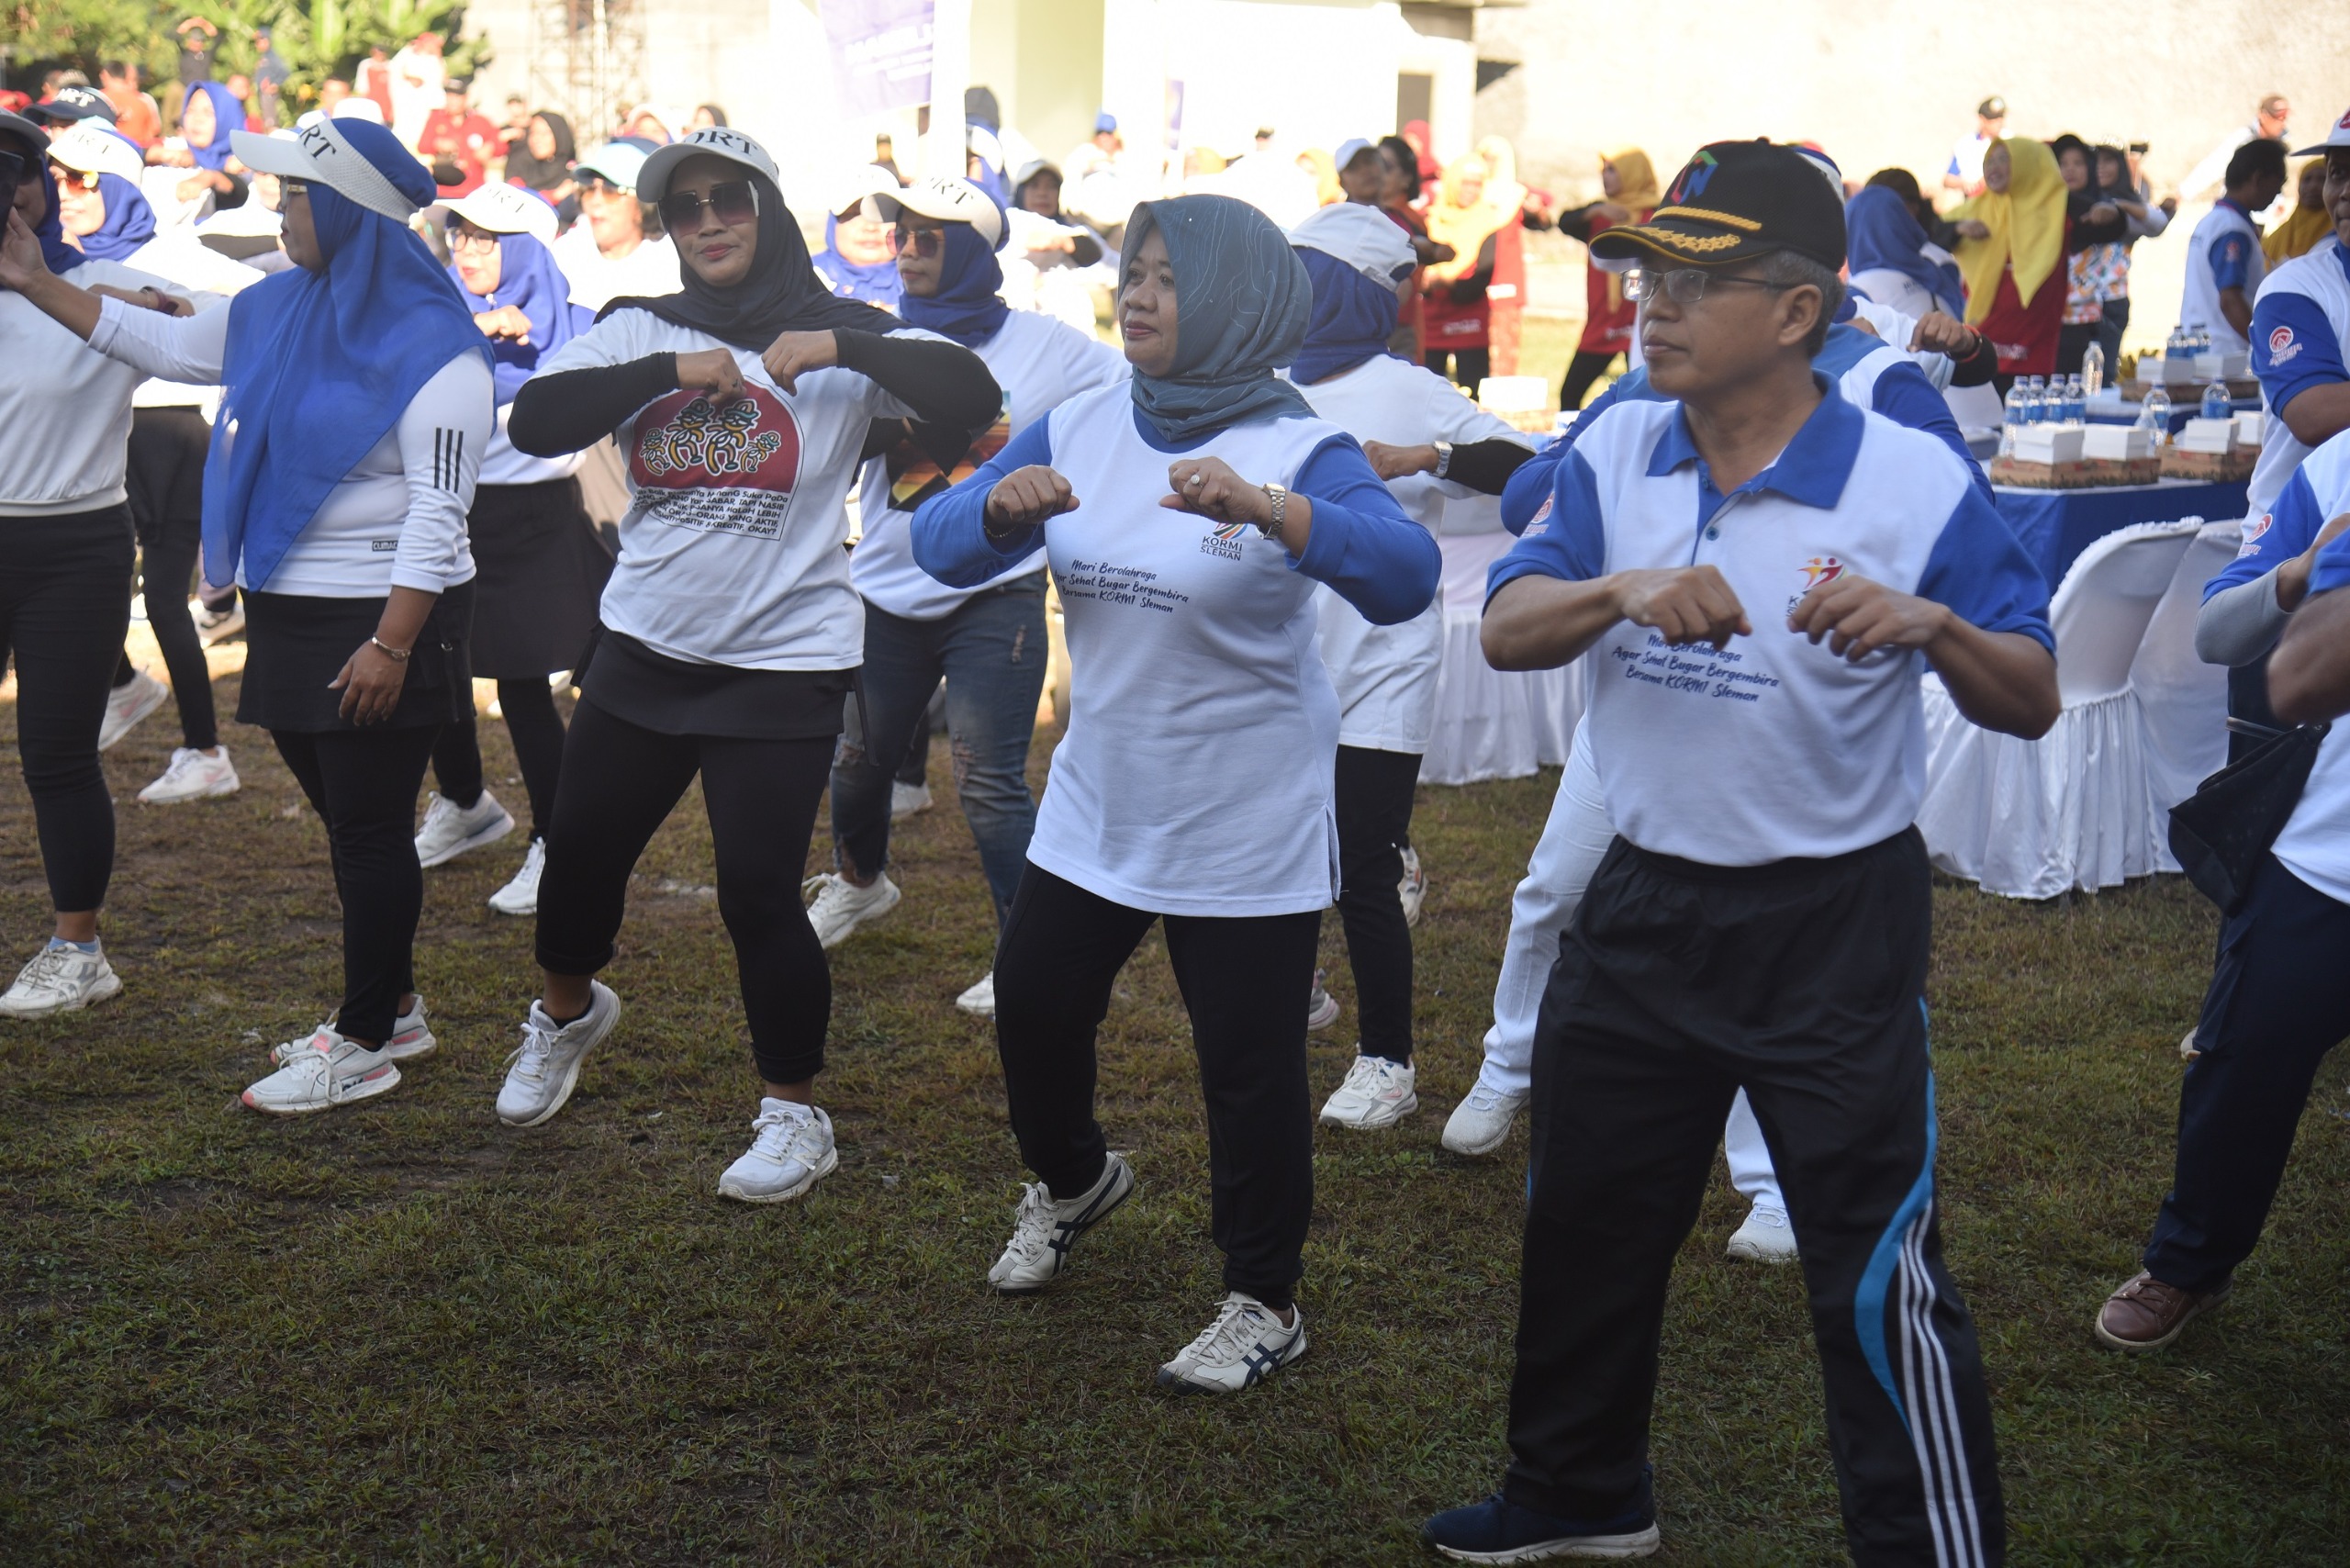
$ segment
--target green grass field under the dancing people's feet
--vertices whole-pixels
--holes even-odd
[[[627,1016],[559,1119],[491,1114],[533,973],[531,924],[482,905],[510,839],[428,872],[442,1053],[390,1098],[268,1121],[237,1091],[338,985],[324,839],[242,726],[242,795],[134,804],[169,729],[106,757],[127,992],[0,1025],[0,1561],[1415,1563],[1419,1519],[1497,1481],[1525,1135],[1485,1164],[1436,1135],[1556,776],[1422,790],[1422,1112],[1318,1135],[1311,1356],[1177,1401],[1152,1368],[1206,1324],[1217,1262],[1161,945],[1104,1032],[1137,1201],[1062,1288],[985,1288],[1020,1168],[992,1034],[952,1006],[989,931],[942,755],[940,809],[898,839],[905,903],[834,954],[841,1168],[745,1208],[712,1197],[757,1088],[698,797],[639,867],[609,973]],[[16,964],[47,898],[12,757],[0,778]],[[2070,905],[1943,886],[1936,919],[1943,1229],[2012,1561],[2350,1561],[2343,1065],[2228,1309],[2171,1354],[2106,1354],[2089,1316],[2167,1180],[2214,917],[2164,879]],[[1316,1037],[1316,1093],[1351,1048],[1335,922],[1323,947],[1349,1018]],[[1833,1563],[1802,1281],[1720,1255],[1739,1213],[1718,1180],[1676,1274],[1659,1561]]]

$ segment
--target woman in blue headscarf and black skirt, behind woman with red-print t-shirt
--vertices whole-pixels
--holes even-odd
[[[564,759],[564,719],[548,677],[580,665],[595,635],[597,595],[611,576],[611,555],[580,498],[583,454],[533,458],[515,451],[505,435],[515,393],[590,322],[571,303],[571,284],[545,244],[552,237],[555,212],[517,186],[482,186],[451,205],[449,275],[489,339],[498,388],[498,428],[482,454],[482,482],[465,515],[479,571],[472,675],[498,682],[498,712],[531,799],[522,870],[489,896],[489,907],[501,914],[538,912],[545,825],[555,818],[555,780]],[[482,741],[470,712],[442,729],[432,776],[439,792],[416,835],[416,858],[425,867],[479,849],[515,825],[482,785]]]

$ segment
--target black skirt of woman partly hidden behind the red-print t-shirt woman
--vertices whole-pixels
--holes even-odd
[[[475,564],[475,677],[578,668],[611,576],[611,555],[580,505],[580,482],[484,484],[472,494],[465,531]]]

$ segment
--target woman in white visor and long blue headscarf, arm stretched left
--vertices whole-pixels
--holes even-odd
[[[465,508],[494,421],[491,355],[407,221],[432,179],[378,125],[235,132],[284,181],[296,263],[226,310],[174,320],[40,266],[12,223],[0,284],[103,355],[219,383],[204,576],[244,588],[237,717],[270,731],[327,823],[343,903],[343,1004],[244,1091],[270,1114],[378,1095],[432,1051],[416,997],[423,907],[411,813],[432,736],[472,703]]]

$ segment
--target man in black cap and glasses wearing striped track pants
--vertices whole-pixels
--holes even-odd
[[[1941,1265],[1920,675],[1974,724],[2054,724],[2047,585],[1939,440],[1810,355],[1842,299],[1842,190],[1713,143],[1647,223],[1640,353],[1673,402],[1579,433],[1495,564],[1495,668],[1589,651],[1617,830],[1535,1030],[1511,1467],[1438,1514],[1464,1561],[1645,1556],[1673,1255],[1746,1088],[1786,1190],[1859,1563],[1998,1563],[1990,1406]]]

